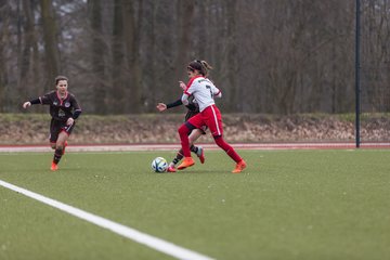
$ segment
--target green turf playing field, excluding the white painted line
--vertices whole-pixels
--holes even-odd
[[[0,180],[214,259],[390,259],[390,151],[0,154]],[[174,259],[0,186],[0,259]]]

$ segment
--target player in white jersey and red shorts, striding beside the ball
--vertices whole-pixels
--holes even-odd
[[[213,98],[221,98],[221,91],[206,78],[209,69],[212,67],[205,61],[193,61],[187,66],[190,81],[187,84],[180,82],[184,93],[182,102],[184,105],[188,103],[188,98],[194,95],[199,105],[197,115],[190,118],[179,128],[180,141],[184,154],[183,162],[178,167],[179,170],[191,167],[195,164],[191,157],[188,132],[193,129],[202,129],[207,126],[214,139],[214,142],[236,162],[233,173],[239,173],[246,168],[245,160],[234,151],[234,148],[223,140],[222,116],[216,106]]]

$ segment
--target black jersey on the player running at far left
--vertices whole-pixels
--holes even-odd
[[[69,92],[66,92],[65,99],[62,100],[54,90],[40,96],[39,101],[42,105],[50,105],[50,115],[54,120],[66,121],[75,112],[81,112],[75,95]]]

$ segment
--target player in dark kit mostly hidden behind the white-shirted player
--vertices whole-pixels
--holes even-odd
[[[165,104],[165,103],[158,103],[157,104],[157,109],[159,112],[164,112],[166,109],[176,107],[176,106],[180,106],[182,105],[183,102],[181,101],[181,99],[170,103],[170,104]],[[186,105],[186,108],[188,109],[187,113],[185,114],[185,120],[188,120],[191,117],[195,116],[196,114],[199,113],[199,106],[197,105],[196,102],[194,102],[193,100],[190,100],[188,104]],[[204,148],[202,146],[195,146],[194,142],[202,135],[202,134],[206,134],[205,132],[206,129],[202,130],[202,129],[194,129],[193,131],[191,131],[190,135],[188,135],[188,140],[190,140],[190,150],[191,152],[195,153],[196,156],[199,158],[202,164],[205,164],[205,152]],[[173,160],[169,164],[167,171],[168,172],[176,172],[176,165],[183,158],[183,150],[180,150],[177,154],[177,156],[173,158]]]

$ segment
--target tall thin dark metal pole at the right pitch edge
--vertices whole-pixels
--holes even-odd
[[[356,0],[356,28],[355,28],[355,140],[360,147],[360,0]]]

